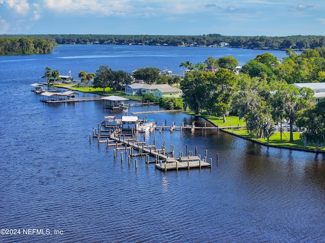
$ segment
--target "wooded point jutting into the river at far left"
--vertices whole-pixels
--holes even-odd
[[[41,37],[0,37],[0,55],[51,53],[57,43]]]

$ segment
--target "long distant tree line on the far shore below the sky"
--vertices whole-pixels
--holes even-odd
[[[230,47],[270,48],[270,49],[314,49],[325,47],[324,35],[292,36],[225,36],[221,34],[203,35],[114,35],[114,34],[37,34],[0,35],[0,37],[36,37],[54,39],[58,44],[135,44],[135,45],[196,45],[217,46],[229,43]]]

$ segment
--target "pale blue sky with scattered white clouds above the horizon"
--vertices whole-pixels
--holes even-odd
[[[325,35],[325,1],[0,0],[0,34]]]

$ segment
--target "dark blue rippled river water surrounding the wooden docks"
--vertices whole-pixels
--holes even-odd
[[[114,159],[112,148],[89,143],[92,128],[113,114],[101,101],[49,105],[30,92],[30,84],[42,82],[45,66],[73,76],[100,65],[181,73],[186,60],[232,55],[244,64],[259,53],[85,45],[0,57],[0,242],[325,242],[322,154],[267,148],[222,132],[156,131],[146,135],[147,143],[166,141],[176,154],[186,144],[203,156],[208,150],[212,170],[165,173],[140,157],[136,170],[135,158],[128,166],[128,154],[121,163],[119,152]],[[194,119],[182,113],[148,117],[169,126]]]

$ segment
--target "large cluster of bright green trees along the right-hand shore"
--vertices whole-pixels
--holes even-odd
[[[223,117],[224,124],[227,116],[237,115],[245,121],[249,136],[267,143],[276,128],[283,131],[282,125],[286,125],[289,143],[295,142],[294,131],[301,131],[304,147],[323,149],[325,103],[316,103],[311,89],[291,84],[325,82],[324,48],[305,50],[301,55],[288,50],[287,54],[280,63],[269,53],[257,55],[238,74],[226,65],[215,72],[192,69],[180,83],[185,107],[194,114]],[[211,61],[212,57],[206,63]],[[282,135],[280,132],[280,142]]]

